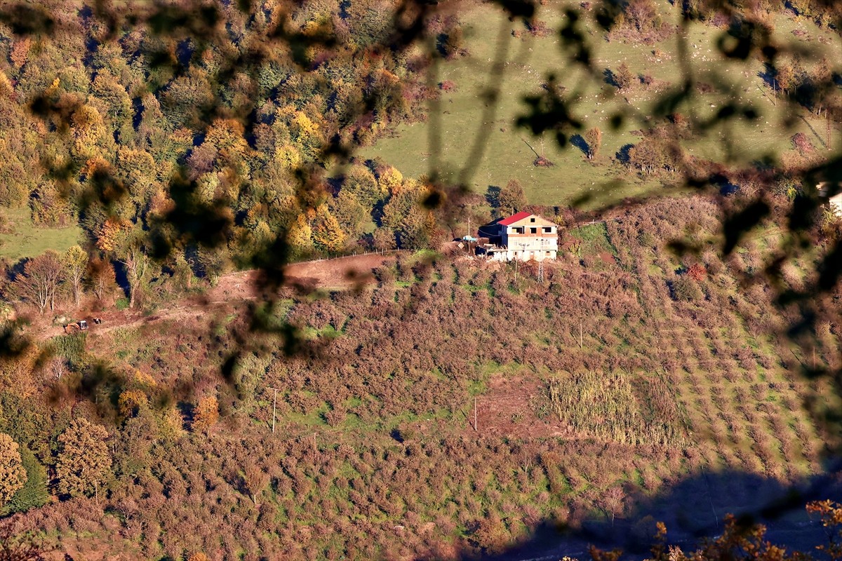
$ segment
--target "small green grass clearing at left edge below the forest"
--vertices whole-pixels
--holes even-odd
[[[29,209],[0,209],[9,225],[9,233],[0,234],[0,257],[16,262],[35,257],[48,249],[67,251],[79,243],[82,230],[77,225],[67,228],[43,228],[32,223]]]

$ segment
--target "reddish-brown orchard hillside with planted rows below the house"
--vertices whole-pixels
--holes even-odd
[[[727,262],[708,246],[701,268],[664,249],[690,223],[714,240],[716,214],[705,198],[663,200],[570,230],[544,283],[528,268],[515,280],[465,257],[398,257],[361,292],[285,290],[271,308],[232,299],[195,320],[92,330],[57,347],[78,374],[36,371],[49,389],[4,394],[0,430],[49,462],[42,442],[71,415],[102,415],[107,498],[19,521],[83,558],[450,558],[541,521],[634,516],[702,473],[740,474],[714,491],[722,515],[756,504],[774,495],[740,478],[774,489],[823,473],[837,433],[817,420],[839,404],[800,362],[839,368],[839,307],[823,308],[807,354],[783,336],[775,291],[739,288],[778,235]],[[284,321],[297,336],[275,331]],[[571,391],[592,397],[575,405]],[[220,418],[200,428],[209,397]],[[679,508],[679,536],[711,524],[694,500]]]

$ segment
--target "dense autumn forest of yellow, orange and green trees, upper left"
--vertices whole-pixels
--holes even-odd
[[[423,118],[424,57],[376,48],[395,5],[173,4],[132,27],[154,8],[132,4],[108,12],[131,29],[118,36],[82,3],[51,8],[19,14],[49,15],[49,34],[0,29],[3,206],[27,205],[45,227],[78,222],[85,249],[110,261],[166,257],[198,274],[248,267],[279,231],[292,257],[359,248],[374,219],[368,246],[429,243],[423,182],[381,162],[327,177],[344,146]]]

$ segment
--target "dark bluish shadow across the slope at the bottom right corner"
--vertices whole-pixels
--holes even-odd
[[[738,527],[767,528],[765,540],[773,545],[814,553],[828,542],[820,521],[811,520],[805,505],[811,500],[840,500],[842,485],[830,475],[782,484],[741,471],[701,473],[679,481],[661,494],[647,497],[631,493],[627,514],[611,521],[605,512],[573,512],[568,525],[542,522],[526,542],[500,553],[465,555],[465,559],[522,561],[525,559],[590,558],[591,546],[603,551],[621,549],[625,559],[650,557],[656,541],[656,523],[667,527],[668,545],[691,553],[706,539],[720,536],[724,519],[736,516]]]

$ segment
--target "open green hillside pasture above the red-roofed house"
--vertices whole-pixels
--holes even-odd
[[[735,168],[757,161],[780,164],[797,133],[807,135],[819,149],[828,147],[823,115],[782,98],[778,103],[764,61],[729,59],[721,49],[727,38],[724,26],[703,19],[682,24],[679,3],[653,3],[657,19],[681,29],[651,40],[643,31],[606,37],[595,21],[600,3],[587,3],[578,31],[589,46],[592,68],[570,61],[559,30],[569,22],[566,10],[578,4],[541,3],[532,24],[507,19],[490,4],[464,10],[460,17],[466,55],[437,67],[434,81],[441,95],[431,103],[427,119],[399,124],[393,135],[363,148],[362,154],[380,157],[408,176],[444,174],[446,181],[466,182],[477,193],[516,179],[531,204],[583,204],[595,209],[626,197],[675,194],[684,181],[680,174],[636,177],[622,160],[648,129],[668,122],[663,104],[671,103],[670,96],[688,76],[695,87],[673,107],[700,124],[692,135],[679,136],[686,156]],[[823,57],[839,66],[839,34],[775,7],[767,18],[775,45],[801,52],[808,73]],[[687,61],[679,56],[679,40],[690,50]],[[633,81],[632,86],[618,89],[614,75],[622,64]],[[564,129],[568,134],[564,146],[552,134],[536,138],[528,126],[516,124],[520,117],[530,116],[530,98],[547,97],[551,77],[565,110],[579,122],[577,128]],[[496,95],[493,102],[488,101],[491,93]],[[750,107],[757,116],[711,119],[729,104]],[[619,126],[612,124],[617,115],[623,117]],[[550,119],[546,127],[552,131]],[[589,159],[583,135],[592,127],[600,128],[603,136],[600,154]],[[838,132],[834,138],[830,147],[837,150]],[[475,143],[482,143],[482,159],[474,151]],[[539,155],[554,165],[536,166]]]

